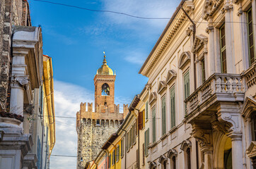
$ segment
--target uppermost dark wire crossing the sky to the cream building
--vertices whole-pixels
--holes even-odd
[[[33,1],[39,1],[42,3],[47,3],[47,4],[54,4],[54,5],[59,5],[59,6],[67,6],[67,7],[71,7],[71,8],[78,8],[78,9],[82,9],[82,10],[86,10],[86,11],[93,11],[93,12],[102,12],[102,13],[115,13],[118,15],[127,15],[129,17],[132,18],[139,18],[139,19],[145,19],[145,20],[182,20],[185,22],[190,22],[190,20],[184,20],[184,19],[180,19],[180,18],[150,18],[150,17],[142,17],[142,16],[138,16],[138,15],[131,15],[129,13],[122,13],[122,12],[117,12],[117,11],[109,11],[109,10],[97,10],[97,9],[91,9],[91,8],[83,8],[83,7],[79,7],[79,6],[74,6],[74,5],[68,5],[68,4],[62,4],[62,3],[57,3],[57,2],[52,2],[52,1],[45,1],[45,0],[33,0]],[[244,23],[244,22],[236,22],[236,21],[231,21],[231,22],[226,22],[226,21],[218,21],[218,22],[201,22],[201,21],[194,21],[192,20],[194,23],[205,23],[205,24],[214,24],[214,23],[241,23],[241,24],[248,24],[248,23]],[[256,23],[252,23],[252,25],[256,25]]]

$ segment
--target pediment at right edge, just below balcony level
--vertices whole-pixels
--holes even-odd
[[[247,96],[245,98],[244,106],[241,111],[241,115],[247,120],[250,117],[250,113],[256,111],[256,99],[252,96]]]

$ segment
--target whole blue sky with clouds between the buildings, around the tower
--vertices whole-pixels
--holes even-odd
[[[49,0],[142,17],[170,18],[178,0]],[[41,25],[43,52],[52,57],[56,115],[75,117],[81,102],[93,102],[93,77],[103,62],[116,71],[115,101],[129,104],[147,78],[139,69],[168,20],[141,20],[29,0],[33,26]],[[56,118],[52,154],[76,155],[75,119]],[[67,132],[68,131],[68,132]],[[65,147],[65,149],[63,149]],[[51,156],[51,168],[76,168],[76,158]]]

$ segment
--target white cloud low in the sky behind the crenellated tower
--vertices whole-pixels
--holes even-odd
[[[122,104],[129,104],[130,100],[124,96],[116,97],[116,103],[120,104],[120,111],[122,111]],[[93,103],[93,91],[76,84],[54,80],[54,108],[57,117],[55,118],[56,143],[52,151],[53,155],[76,156],[76,112],[79,111],[81,102]],[[58,116],[73,118],[59,118]],[[50,167],[54,169],[76,168],[76,158],[51,156]]]

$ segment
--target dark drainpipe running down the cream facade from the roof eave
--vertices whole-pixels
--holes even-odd
[[[184,1],[185,2],[185,1]],[[194,23],[194,21],[190,18],[190,15],[187,14],[187,12],[185,11],[185,9],[181,6],[180,7],[182,9],[182,11],[185,13],[185,15],[187,16],[187,18],[190,20],[190,22],[193,25],[193,43],[194,43],[194,39],[196,36],[196,25]],[[195,61],[195,54],[193,53],[193,61]],[[194,64],[194,91],[197,89],[197,76],[196,76],[196,66],[195,63]],[[196,142],[196,158],[197,158],[197,168],[199,168],[199,163],[198,163],[198,143]]]

